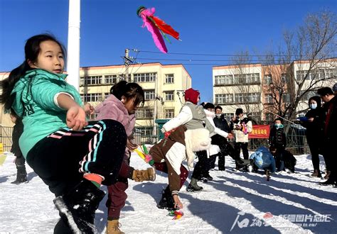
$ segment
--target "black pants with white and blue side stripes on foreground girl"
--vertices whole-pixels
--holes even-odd
[[[93,121],[80,131],[63,128],[40,140],[28,152],[27,162],[55,196],[65,194],[82,180],[83,172],[116,182],[127,135],[117,121]]]

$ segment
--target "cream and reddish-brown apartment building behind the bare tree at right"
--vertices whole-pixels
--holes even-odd
[[[336,82],[336,58],[286,65],[214,66],[213,100],[223,107],[228,119],[236,108],[242,108],[257,123],[270,123],[276,117],[274,113],[285,111],[294,101],[291,97],[300,96],[296,112],[305,111],[316,89],[332,87]]]

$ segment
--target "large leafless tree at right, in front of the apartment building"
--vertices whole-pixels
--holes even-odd
[[[309,14],[302,26],[284,33],[284,48],[267,52],[263,67],[272,74],[272,84],[266,91],[274,99],[269,109],[292,119],[304,111],[299,105],[308,94],[322,86],[332,87],[337,81],[336,33],[336,13]]]

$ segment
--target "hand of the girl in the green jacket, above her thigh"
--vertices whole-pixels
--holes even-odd
[[[72,106],[67,111],[66,123],[68,128],[73,128],[73,130],[81,130],[83,127],[87,126],[85,121],[85,110],[80,106]]]

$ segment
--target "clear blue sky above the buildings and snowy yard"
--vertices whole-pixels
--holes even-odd
[[[180,33],[182,41],[166,43],[171,54],[161,54],[141,28],[141,5],[155,7],[155,15]],[[182,63],[201,101],[210,101],[212,66],[228,64],[230,57],[208,55],[263,54],[282,43],[283,30],[323,9],[336,12],[336,0],[82,0],[80,66],[121,65],[125,48],[137,49],[130,52],[136,62]],[[0,72],[23,62],[27,38],[47,32],[67,45],[68,0],[0,0]]]

